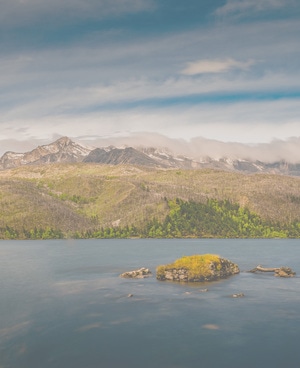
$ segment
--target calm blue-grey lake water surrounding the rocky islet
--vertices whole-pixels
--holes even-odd
[[[242,272],[206,285],[119,277],[196,253]],[[258,264],[297,275],[245,272]],[[299,275],[299,240],[1,241],[0,368],[298,368]]]

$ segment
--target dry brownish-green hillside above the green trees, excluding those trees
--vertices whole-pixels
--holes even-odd
[[[53,164],[0,172],[0,227],[63,231],[140,225],[168,213],[164,197],[230,199],[264,219],[300,219],[300,179],[216,170]]]

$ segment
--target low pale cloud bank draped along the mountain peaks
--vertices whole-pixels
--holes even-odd
[[[11,140],[7,143],[7,150],[14,152],[27,152],[39,145],[49,144],[60,135],[53,135],[51,140],[31,139],[25,142]],[[190,140],[170,138],[162,134],[151,132],[115,133],[113,136],[77,136],[71,137],[79,144],[91,148],[97,147],[155,147],[167,149],[173,155],[184,155],[195,160],[206,157],[214,159],[231,158],[250,161],[274,163],[285,161],[300,164],[300,137],[291,137],[286,140],[274,139],[268,143],[245,144],[240,142],[222,142],[204,137],[194,137]],[[3,148],[3,145],[0,146]]]

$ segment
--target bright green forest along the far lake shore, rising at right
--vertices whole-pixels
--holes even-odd
[[[60,229],[0,229],[2,239],[61,238],[299,238],[300,222],[271,223],[246,207],[229,200],[208,199],[206,203],[167,200],[164,220],[153,218],[146,225],[111,226],[86,231],[63,232]]]

